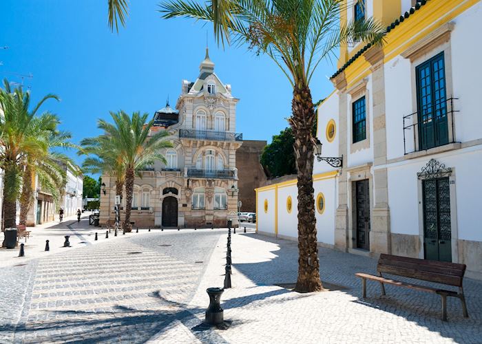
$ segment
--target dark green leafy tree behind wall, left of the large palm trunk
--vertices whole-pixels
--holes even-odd
[[[274,135],[271,143],[264,147],[261,164],[270,178],[296,173],[294,143],[293,129],[286,128],[279,135]]]

